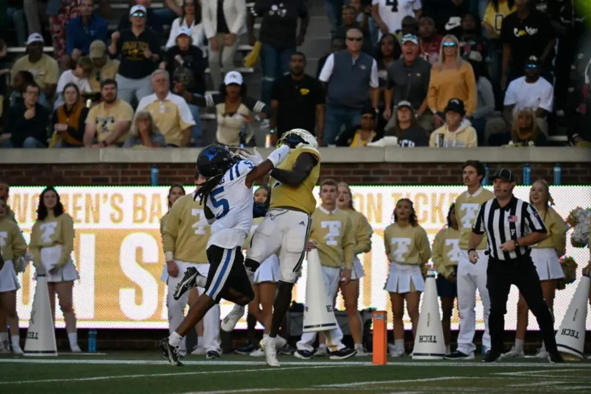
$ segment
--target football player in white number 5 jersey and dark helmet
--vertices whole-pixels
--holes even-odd
[[[209,145],[199,153],[197,168],[207,180],[195,198],[202,199],[205,216],[212,224],[212,235],[207,242],[210,268],[206,280],[197,270],[187,270],[174,292],[174,298],[178,299],[191,287],[206,289],[176,330],[160,341],[163,356],[173,366],[182,365],[177,349],[184,336],[220,299],[247,305],[254,298],[241,252],[252,225],[252,185],[255,179],[280,164],[288,152],[289,146],[284,145],[271,152],[266,160],[261,155],[239,160],[228,146]]]

